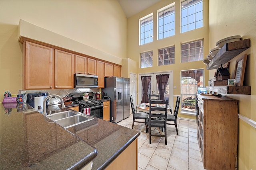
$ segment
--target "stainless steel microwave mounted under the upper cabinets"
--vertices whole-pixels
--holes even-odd
[[[74,76],[75,88],[97,88],[98,87],[98,76],[79,74],[76,73]]]

